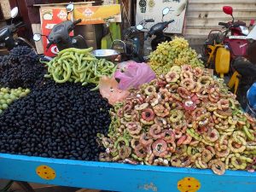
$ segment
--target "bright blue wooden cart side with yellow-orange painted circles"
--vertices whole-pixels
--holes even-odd
[[[0,178],[114,191],[256,192],[256,173],[0,154]]]

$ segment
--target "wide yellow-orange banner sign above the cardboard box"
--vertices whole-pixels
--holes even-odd
[[[113,17],[111,22],[121,22],[121,9],[119,4],[86,6],[76,5],[73,13],[74,20],[81,19],[79,25],[102,24],[104,19]]]

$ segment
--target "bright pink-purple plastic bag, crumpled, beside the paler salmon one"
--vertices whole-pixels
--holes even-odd
[[[114,78],[119,79],[120,90],[138,89],[140,85],[155,79],[155,73],[147,63],[128,61],[119,64]]]

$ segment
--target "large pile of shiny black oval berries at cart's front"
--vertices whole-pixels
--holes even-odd
[[[98,160],[96,134],[108,132],[108,102],[94,85],[49,80],[0,116],[0,153]]]

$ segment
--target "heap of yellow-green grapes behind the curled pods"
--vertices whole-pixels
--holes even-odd
[[[172,66],[190,64],[192,67],[204,67],[195,49],[189,47],[184,38],[174,38],[170,42],[159,44],[150,54],[150,67],[157,75],[166,74]]]

